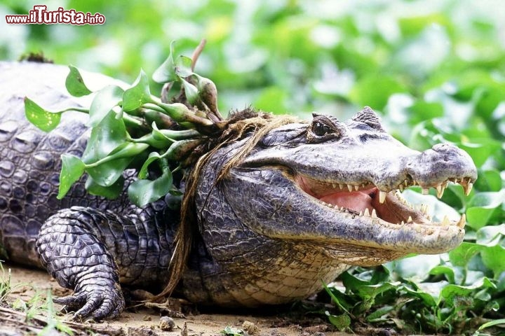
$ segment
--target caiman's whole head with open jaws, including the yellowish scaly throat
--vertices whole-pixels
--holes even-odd
[[[424,204],[409,204],[400,191],[436,188],[441,197],[447,183],[459,183],[468,194],[477,178],[470,156],[449,144],[412,150],[369,108],[346,122],[315,114],[311,123],[271,130],[215,183],[212,172],[240,146],[223,148],[208,163],[197,207],[213,258],[235,267],[234,283],[255,288],[234,295],[245,304],[288,302],[349,265],[443,253],[462,242],[464,216],[433,221]]]

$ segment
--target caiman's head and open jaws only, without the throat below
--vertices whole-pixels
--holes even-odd
[[[414,151],[387,134],[367,107],[345,123],[314,114],[309,125],[270,132],[225,188],[240,190],[228,201],[256,232],[352,246],[346,260],[368,265],[459,245],[464,215],[433,222],[424,204],[405,202],[400,191],[436,188],[441,197],[448,183],[459,183],[468,195],[476,178],[464,151],[449,144]]]

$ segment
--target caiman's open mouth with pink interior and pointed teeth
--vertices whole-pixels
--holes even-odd
[[[358,184],[322,182],[307,176],[297,176],[299,188],[314,197],[325,207],[353,216],[369,217],[396,225],[418,223],[422,225],[440,225],[448,227],[457,225],[464,228],[466,216],[463,214],[459,221],[450,221],[447,216],[440,222],[433,222],[429,216],[428,206],[425,204],[413,205],[407,202],[400,191],[410,186],[419,186],[415,180],[405,180],[398,184],[396,190],[379,190],[371,182]],[[451,178],[433,186],[421,186],[422,193],[426,195],[429,188],[436,188],[437,197],[442,197],[448,183],[458,183],[463,186],[466,195],[469,195],[473,183],[471,178]]]

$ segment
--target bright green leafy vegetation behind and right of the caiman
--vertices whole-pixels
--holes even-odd
[[[433,212],[466,212],[451,253],[353,269],[328,318],[406,332],[485,335],[505,317],[505,11],[499,0],[99,1],[47,0],[105,15],[105,25],[6,25],[41,1],[0,3],[0,59],[43,52],[58,64],[133,82],[153,73],[170,41],[184,55],[206,38],[196,71],[220,92],[220,110],[253,105],[309,118],[348,118],[363,106],[412,148],[464,148],[479,169],[465,197],[450,185]],[[1,73],[0,73],[1,76]],[[160,87],[152,85],[152,92]],[[1,94],[1,93],[0,93]],[[405,197],[421,197],[419,190]],[[448,204],[448,205],[446,205]],[[494,329],[480,325],[490,322]],[[492,331],[487,331],[492,330]]]

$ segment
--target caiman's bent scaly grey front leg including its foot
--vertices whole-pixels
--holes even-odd
[[[158,235],[152,232],[152,222],[156,221],[141,209],[133,216],[119,216],[72,207],[48,218],[36,241],[37,253],[62,287],[74,289],[74,295],[55,302],[78,309],[76,319],[119,316],[125,307],[120,278],[142,285],[159,280],[153,278],[155,269],[161,271],[157,275],[168,269],[168,265],[153,265],[152,260],[169,260],[170,248],[159,230]],[[150,244],[144,244],[147,240]]]

